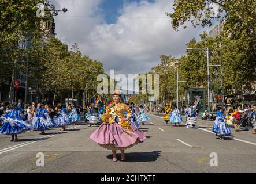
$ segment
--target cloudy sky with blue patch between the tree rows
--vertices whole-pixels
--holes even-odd
[[[202,28],[172,29],[165,12],[173,0],[51,0],[68,12],[55,18],[57,37],[79,45],[83,55],[103,63],[105,72],[139,74],[160,63],[159,55],[179,57]]]

